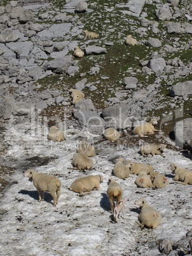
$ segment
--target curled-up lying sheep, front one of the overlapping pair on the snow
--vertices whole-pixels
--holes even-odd
[[[74,169],[79,169],[79,171],[81,171],[85,169],[91,169],[93,160],[83,153],[74,153],[71,164],[75,167]]]

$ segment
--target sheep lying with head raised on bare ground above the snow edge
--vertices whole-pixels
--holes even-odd
[[[139,137],[147,137],[145,134],[154,134],[154,132],[160,132],[161,130],[156,130],[154,128],[154,125],[158,124],[157,120],[155,118],[151,119],[149,123],[145,122],[142,123],[139,126],[136,126],[134,128],[134,134],[139,135]]]

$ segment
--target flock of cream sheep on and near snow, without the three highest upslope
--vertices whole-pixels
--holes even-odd
[[[82,101],[85,97],[83,92],[71,89],[72,104],[77,104],[79,101]],[[157,124],[157,121],[152,119],[151,122],[142,123],[138,127],[135,127],[134,134],[139,135],[139,137],[144,137],[149,134],[153,134],[154,125]],[[103,132],[104,138],[110,141],[117,141],[120,139],[120,132],[116,131],[114,128],[108,128]],[[53,141],[64,141],[64,132],[59,131],[56,126],[50,127],[48,131],[48,139]],[[141,145],[140,153],[144,155],[161,155],[165,152],[166,145]],[[79,143],[77,152],[74,153],[72,158],[72,166],[74,169],[79,171],[90,169],[93,166],[93,160],[91,157],[96,155],[94,146],[88,144],[86,141],[81,141]],[[172,173],[175,174],[173,180],[181,181],[182,185],[191,184],[192,185],[192,171],[188,169],[183,169],[176,164],[171,164],[170,169]],[[168,180],[164,174],[160,174],[154,171],[153,166],[149,164],[144,164],[140,162],[134,162],[132,160],[126,160],[123,157],[116,160],[114,165],[113,172],[114,176],[126,179],[130,174],[135,174],[135,184],[137,187],[141,188],[163,188],[168,185]],[[44,173],[38,173],[33,169],[28,169],[24,173],[25,177],[29,178],[29,181],[33,181],[34,186],[39,193],[39,201],[44,200],[44,192],[50,192],[53,197],[53,206],[56,206],[58,203],[58,198],[60,196],[61,182],[55,177]],[[99,190],[100,183],[103,181],[103,176],[98,175],[87,175],[81,176],[74,180],[70,186],[70,190],[73,192],[79,193],[80,196],[84,194],[90,194],[92,190]],[[111,212],[113,213],[114,221],[118,222],[118,218],[124,217],[123,210],[125,208],[126,199],[122,199],[123,191],[120,187],[120,184],[116,182],[113,178],[110,178],[107,188],[107,197],[111,206]],[[114,202],[116,202],[114,207]],[[139,225],[141,227],[151,227],[152,229],[156,228],[161,223],[161,214],[158,211],[154,210],[149,206],[145,199],[141,198],[135,202],[141,208],[141,213],[139,214]]]

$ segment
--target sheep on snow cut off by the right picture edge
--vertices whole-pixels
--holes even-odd
[[[188,169],[181,168],[177,166],[177,164],[170,164],[170,168],[172,170],[172,173],[175,174],[175,177],[173,180],[179,180],[182,185],[192,185],[192,171],[189,171]]]

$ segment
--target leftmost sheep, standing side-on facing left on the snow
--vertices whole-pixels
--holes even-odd
[[[27,169],[27,171],[24,173],[24,177],[28,177],[29,181],[32,181],[38,190],[39,202],[44,201],[44,192],[50,192],[51,197],[53,197],[53,206],[58,204],[61,182],[57,177],[45,173],[38,173],[34,169]]]

